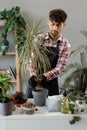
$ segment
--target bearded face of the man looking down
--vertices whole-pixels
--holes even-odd
[[[50,20],[48,20],[48,25],[49,31],[54,37],[58,36],[61,33],[62,29],[65,27],[65,23],[59,24],[58,22]]]

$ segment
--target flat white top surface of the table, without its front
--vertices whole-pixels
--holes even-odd
[[[28,99],[28,101],[33,102],[33,99]],[[16,106],[16,110],[13,111],[12,115],[2,116],[0,115],[0,119],[43,119],[43,118],[70,118],[74,115],[79,115],[81,117],[87,118],[87,114],[64,114],[61,112],[48,112],[47,106],[36,106],[35,113],[32,115],[23,114],[22,108]]]

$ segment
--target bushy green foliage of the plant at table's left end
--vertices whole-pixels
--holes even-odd
[[[11,82],[11,75],[7,72],[0,72],[0,102],[8,103],[11,101],[10,96],[7,94],[7,91],[13,87]]]

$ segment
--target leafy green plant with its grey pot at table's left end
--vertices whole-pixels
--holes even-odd
[[[12,114],[12,100],[7,91],[13,87],[11,75],[7,72],[0,72],[0,115]]]

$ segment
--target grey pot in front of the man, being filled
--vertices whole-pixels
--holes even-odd
[[[43,88],[41,90],[32,91],[34,103],[36,106],[44,106],[48,95],[48,89]]]

